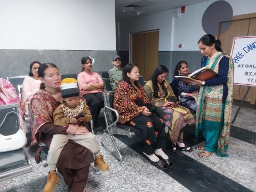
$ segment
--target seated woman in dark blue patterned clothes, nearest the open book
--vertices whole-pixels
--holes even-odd
[[[188,63],[186,61],[179,61],[174,69],[174,76],[188,76],[188,72]],[[180,79],[175,78],[171,83],[171,87],[178,98],[180,105],[187,107],[192,113],[196,113],[200,86],[188,85]]]

